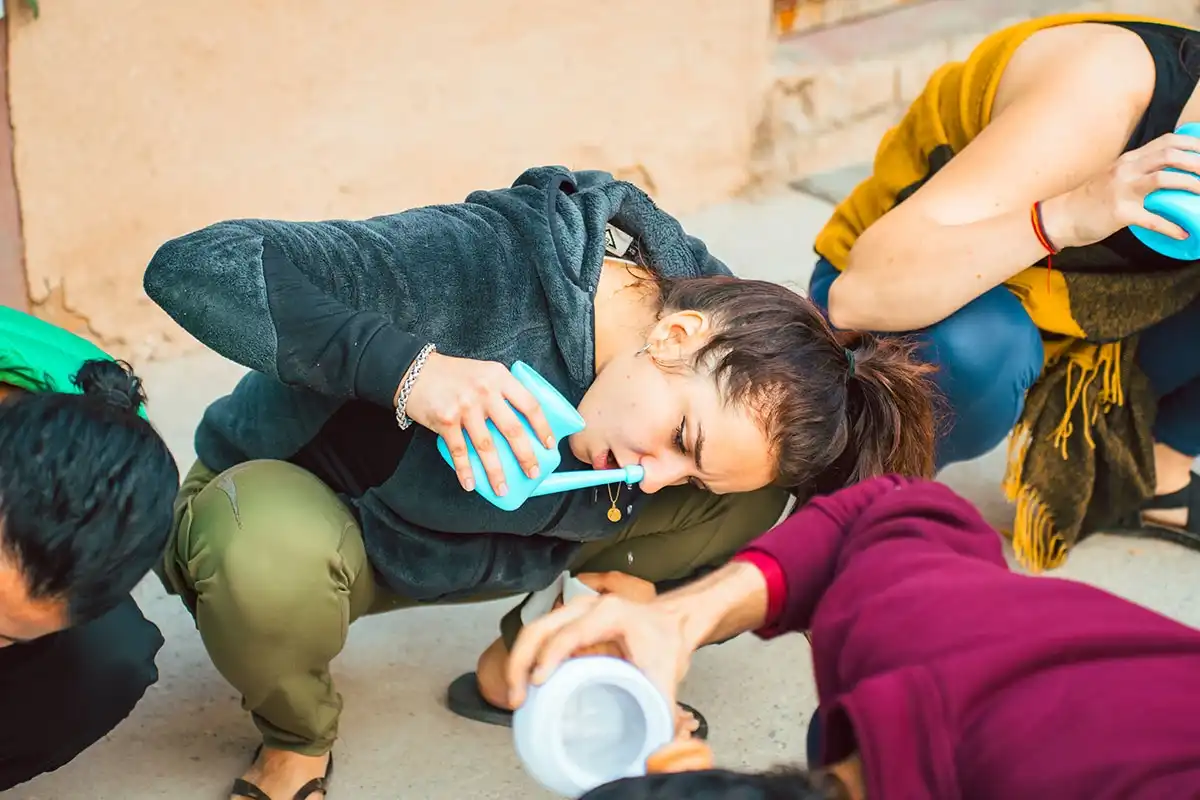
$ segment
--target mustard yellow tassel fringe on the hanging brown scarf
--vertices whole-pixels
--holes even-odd
[[[1121,343],[1090,344],[1075,342],[1058,356],[1049,360],[1046,368],[1055,366],[1062,359],[1066,363],[1066,409],[1058,425],[1048,437],[1055,451],[1068,459],[1068,443],[1075,435],[1073,417],[1082,405],[1082,435],[1087,446],[1096,449],[1092,428],[1100,414],[1106,414],[1114,405],[1124,405],[1124,387],[1121,381]],[[1088,390],[1099,380],[1100,386],[1094,398],[1088,398]],[[1046,505],[1037,487],[1026,482],[1025,468],[1033,445],[1033,428],[1028,422],[1020,422],[1008,443],[1008,467],[1002,483],[1004,497],[1016,504],[1013,521],[1013,551],[1021,566],[1033,572],[1043,572],[1062,566],[1067,559],[1067,540],[1057,529],[1050,506]]]

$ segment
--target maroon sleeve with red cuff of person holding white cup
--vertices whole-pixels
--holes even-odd
[[[898,492],[902,501],[882,503]],[[884,476],[812,500],[736,558],[767,578],[768,619],[758,633],[769,638],[809,630],[817,603],[852,564],[883,560],[876,575],[900,579],[944,570],[944,555],[1008,570],[1000,536],[970,503],[941,483]]]

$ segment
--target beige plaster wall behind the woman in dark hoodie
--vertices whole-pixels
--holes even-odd
[[[140,275],[216,219],[394,212],[542,163],[725,198],[772,47],[770,0],[8,5],[31,297],[134,359],[196,347]]]

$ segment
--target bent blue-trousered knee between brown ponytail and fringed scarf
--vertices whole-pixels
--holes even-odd
[[[1042,374],[1043,347],[1020,300],[996,287],[918,332],[944,403],[938,467],[977,458],[1012,432]]]

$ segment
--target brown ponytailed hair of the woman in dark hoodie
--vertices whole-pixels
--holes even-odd
[[[876,475],[934,474],[932,367],[900,338],[839,332],[817,306],[767,281],[658,278],[661,309],[701,311],[714,335],[691,365],[749,403],[776,483],[802,497]]]

